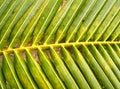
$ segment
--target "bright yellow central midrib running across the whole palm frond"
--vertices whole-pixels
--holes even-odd
[[[98,44],[120,44],[120,41],[97,41],[97,42],[65,42],[65,43],[53,43],[53,44],[44,44],[44,45],[32,45],[32,46],[27,46],[27,47],[18,47],[18,48],[9,48],[9,49],[3,49],[0,50],[0,54],[3,52],[13,52],[14,50],[17,51],[23,51],[25,49],[37,49],[37,48],[42,48],[42,49],[47,49],[50,47],[70,47],[70,46],[80,46],[80,45],[98,45]]]

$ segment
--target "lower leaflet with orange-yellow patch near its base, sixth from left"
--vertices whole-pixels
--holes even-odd
[[[62,51],[61,53],[64,56],[63,60],[67,64],[78,86],[81,89],[90,89],[89,85],[87,84],[87,81],[84,79],[82,73],[80,72],[79,68],[76,66],[75,62],[73,61],[72,57],[67,52],[67,50],[64,47],[62,47],[61,51]]]

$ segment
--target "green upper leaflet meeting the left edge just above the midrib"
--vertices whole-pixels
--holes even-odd
[[[19,0],[17,2],[19,2]],[[9,38],[9,35],[10,35],[14,25],[18,22],[19,18],[21,18],[21,16],[26,11],[26,9],[29,8],[29,6],[32,4],[32,2],[33,2],[33,0],[21,1],[22,6],[21,6],[21,4],[19,4],[18,8],[15,8],[14,14],[11,15],[9,20],[7,20],[5,26],[2,28],[2,30],[0,32],[0,49],[7,42],[7,39]],[[7,30],[6,30],[6,28],[7,28]]]

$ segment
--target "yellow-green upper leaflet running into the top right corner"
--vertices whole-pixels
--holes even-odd
[[[96,40],[96,41],[99,40],[100,37],[103,35],[105,29],[107,27],[109,27],[109,25],[112,22],[112,20],[114,19],[115,15],[118,13],[118,10],[120,8],[119,5],[118,5],[119,2],[120,2],[119,0],[115,2],[115,4],[112,6],[110,12],[108,13],[107,17],[104,19],[104,21],[100,24],[99,28],[94,33],[94,35],[93,35],[94,36],[94,38],[93,38],[94,40]],[[115,32],[116,31],[117,30],[115,30]],[[119,34],[119,32],[117,34]],[[111,34],[111,36],[113,36],[113,35],[114,35],[114,37],[117,36],[117,35],[115,36],[115,33]],[[114,40],[114,39],[112,39],[112,40]]]

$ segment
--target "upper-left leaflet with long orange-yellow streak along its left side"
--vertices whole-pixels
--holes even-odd
[[[30,39],[32,38],[32,34],[34,31],[35,26],[37,25],[41,14],[44,11],[44,8],[47,6],[48,1],[45,0],[42,4],[42,6],[37,10],[36,14],[34,15],[34,17],[32,18],[32,20],[30,21],[30,23],[27,25],[26,29],[24,30],[23,34],[22,34],[22,38],[21,38],[21,46],[25,46]]]

